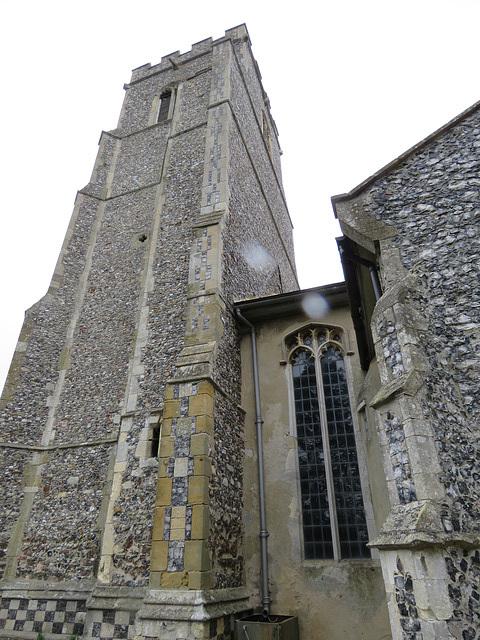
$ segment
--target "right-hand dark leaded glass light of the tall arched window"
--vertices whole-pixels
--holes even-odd
[[[368,532],[343,357],[329,347],[321,368],[341,555],[368,558]]]

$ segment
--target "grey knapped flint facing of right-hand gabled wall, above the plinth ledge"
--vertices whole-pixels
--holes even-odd
[[[477,111],[378,180],[366,205],[395,225],[393,243],[417,278],[411,300],[426,322],[419,330],[430,365],[426,410],[452,526],[467,532],[480,527],[479,168]],[[396,362],[398,342],[388,351]]]

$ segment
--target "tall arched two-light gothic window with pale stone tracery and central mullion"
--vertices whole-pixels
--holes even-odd
[[[309,327],[286,343],[292,366],[305,558],[368,558],[342,333]]]

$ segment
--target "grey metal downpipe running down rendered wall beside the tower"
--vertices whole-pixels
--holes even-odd
[[[264,617],[270,615],[270,593],[268,589],[268,556],[267,556],[267,519],[265,510],[265,479],[263,471],[263,434],[262,434],[262,411],[260,404],[260,384],[258,376],[257,359],[257,335],[255,327],[244,318],[239,309],[235,310],[237,318],[250,329],[252,339],[252,361],[253,361],[253,387],[255,391],[255,425],[257,428],[257,458],[258,458],[258,492],[260,502],[260,550],[262,563],[262,614]]]

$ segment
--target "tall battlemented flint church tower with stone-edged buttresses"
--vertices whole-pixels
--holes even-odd
[[[125,89],[2,395],[7,635],[228,638],[250,606],[233,302],[298,288],[277,131],[244,25]]]

